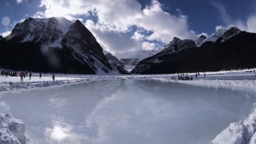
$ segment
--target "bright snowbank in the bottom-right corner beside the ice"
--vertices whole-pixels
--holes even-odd
[[[256,109],[244,121],[230,123],[219,133],[212,144],[254,144],[256,143]]]

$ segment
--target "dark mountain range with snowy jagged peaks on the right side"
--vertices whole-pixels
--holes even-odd
[[[247,33],[238,28],[220,31],[213,36],[218,39],[207,41],[196,48],[176,39],[163,51],[139,62],[133,74],[169,74],[177,72],[219,71],[256,67],[256,33]],[[213,38],[212,37],[212,38]],[[213,40],[213,39],[211,39]],[[174,48],[174,50],[172,50]]]

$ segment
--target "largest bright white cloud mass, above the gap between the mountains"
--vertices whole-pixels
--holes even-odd
[[[174,36],[196,38],[195,32],[189,29],[187,16],[165,12],[156,0],[144,9],[137,0],[41,0],[40,6],[46,7],[46,11],[36,13],[36,17],[64,16],[73,21],[78,16],[94,13],[97,23],[86,21],[85,24],[110,52],[142,49],[144,40],[169,43]],[[131,26],[152,34],[132,32]]]

